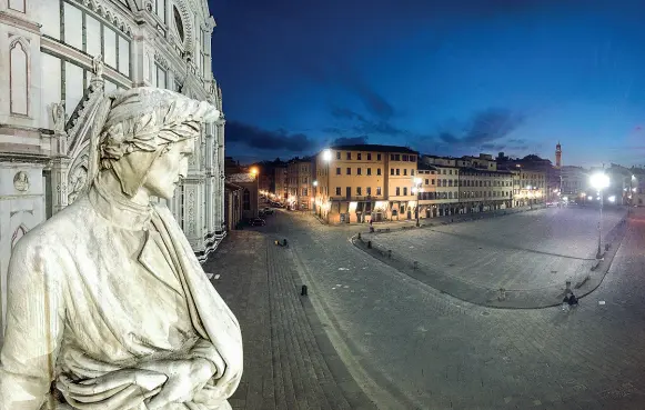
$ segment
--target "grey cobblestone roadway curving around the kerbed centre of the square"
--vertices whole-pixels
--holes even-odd
[[[563,312],[461,302],[352,247],[347,230],[281,213],[269,230],[292,243],[322,324],[380,408],[645,408],[645,216],[599,288]]]

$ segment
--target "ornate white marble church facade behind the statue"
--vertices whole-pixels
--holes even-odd
[[[0,0],[0,289],[16,241],[85,186],[108,92],[151,86],[222,110],[205,0]],[[224,119],[203,127],[168,203],[201,261],[225,234]]]

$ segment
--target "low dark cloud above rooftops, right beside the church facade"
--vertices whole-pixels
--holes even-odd
[[[226,141],[249,148],[272,151],[303,152],[315,149],[315,141],[304,133],[288,133],[285,130],[269,131],[239,121],[226,121]]]

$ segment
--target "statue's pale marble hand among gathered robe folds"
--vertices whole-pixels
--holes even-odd
[[[214,366],[205,359],[162,361],[157,366],[165,368],[168,381],[147,403],[149,410],[162,409],[168,403],[191,401],[215,372]]]

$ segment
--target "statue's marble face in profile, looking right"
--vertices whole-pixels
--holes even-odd
[[[162,153],[150,167],[141,189],[149,194],[171,199],[174,189],[188,174],[188,158],[193,154],[194,139],[172,143],[170,150]]]

